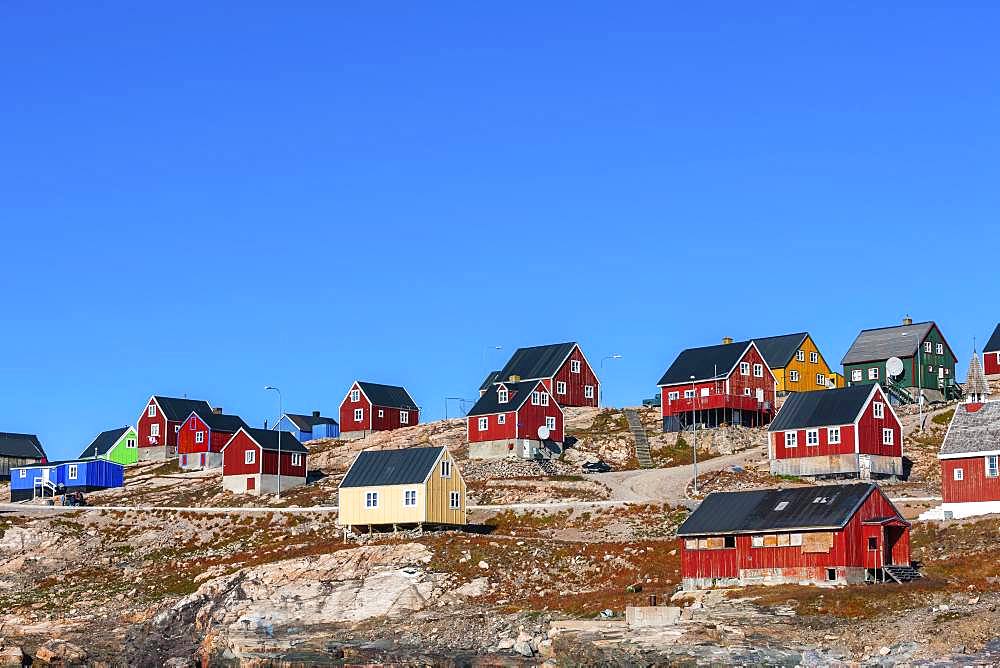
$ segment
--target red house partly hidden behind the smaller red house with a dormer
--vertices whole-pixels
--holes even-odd
[[[479,387],[483,395],[498,382],[539,380],[560,406],[597,406],[601,382],[575,342],[518,348],[499,371],[492,371]]]

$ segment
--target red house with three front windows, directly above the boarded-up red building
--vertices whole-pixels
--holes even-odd
[[[850,476],[903,475],[903,430],[875,385],[789,395],[768,427],[771,473]]]

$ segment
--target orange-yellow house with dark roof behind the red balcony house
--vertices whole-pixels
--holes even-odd
[[[753,341],[774,373],[778,394],[844,387],[844,377],[826,363],[809,332]]]

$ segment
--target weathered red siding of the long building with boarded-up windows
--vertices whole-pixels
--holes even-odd
[[[817,494],[821,488],[817,489]],[[880,533],[880,527],[872,529],[864,525],[864,521],[872,518],[896,517],[902,518],[896,512],[889,500],[876,489],[868,496],[858,511],[848,521],[847,525],[834,533],[833,547],[829,552],[803,552],[800,546],[790,547],[752,547],[750,535],[736,536],[736,547],[721,550],[688,550],[684,539],[680,539],[681,573],[685,578],[735,578],[741,570],[754,569],[815,569],[813,577],[825,579],[825,569],[833,567],[864,567],[869,559],[867,555],[866,538],[873,531]],[[886,530],[887,533],[889,529]],[[900,534],[892,545],[892,556],[886,561],[908,564],[909,527],[893,529]],[[783,531],[767,531],[761,533],[788,533]],[[807,532],[792,532],[807,533]]]

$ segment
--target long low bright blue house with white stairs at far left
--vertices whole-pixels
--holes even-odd
[[[52,497],[63,492],[94,492],[124,484],[125,467],[104,459],[29,464],[11,468],[10,500]]]

